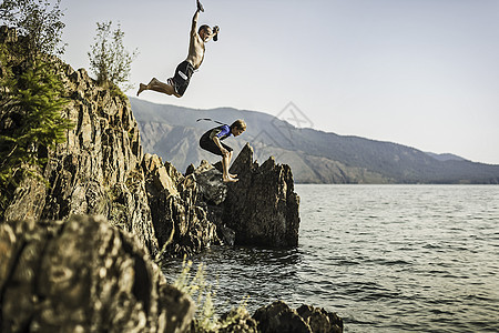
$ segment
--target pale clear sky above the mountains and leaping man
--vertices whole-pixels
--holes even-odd
[[[182,99],[277,115],[293,102],[316,130],[499,164],[499,0],[204,0],[220,40]],[[132,83],[185,59],[195,0],[62,0],[63,59],[89,69],[96,22],[120,22]],[[134,91],[128,94],[134,95]]]

